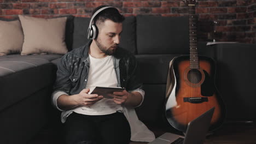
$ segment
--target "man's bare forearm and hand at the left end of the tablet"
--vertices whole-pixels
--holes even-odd
[[[70,110],[78,106],[91,106],[103,99],[102,95],[88,94],[89,91],[90,89],[83,89],[79,94],[63,94],[57,99],[57,105],[62,110]]]

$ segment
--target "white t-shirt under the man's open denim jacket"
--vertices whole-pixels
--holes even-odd
[[[89,55],[90,70],[86,88],[95,86],[117,87],[118,80],[115,73],[113,56],[94,58]],[[92,106],[78,107],[74,112],[84,115],[108,115],[117,111],[123,111],[123,107],[115,104],[113,99],[103,98]]]

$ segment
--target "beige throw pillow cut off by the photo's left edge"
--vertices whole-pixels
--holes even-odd
[[[20,21],[0,20],[0,56],[20,52],[23,39]]]

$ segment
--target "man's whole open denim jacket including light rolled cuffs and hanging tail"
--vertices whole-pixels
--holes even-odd
[[[86,87],[89,75],[89,46],[91,41],[85,46],[74,49],[66,53],[58,64],[57,77],[54,86],[53,104],[57,106],[57,98],[61,94],[78,94]],[[126,91],[144,91],[142,83],[139,82],[139,71],[135,56],[130,52],[118,47],[114,53],[114,69],[118,78],[118,87],[124,87]],[[142,100],[143,101],[143,100]],[[61,109],[59,109],[61,110]],[[73,110],[61,110],[61,121],[64,123],[68,115]],[[132,107],[123,106],[123,113],[131,127],[131,141],[150,142],[155,139],[155,135],[146,125],[139,121],[135,110]]]

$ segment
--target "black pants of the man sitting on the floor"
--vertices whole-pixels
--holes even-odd
[[[67,144],[127,144],[131,129],[123,113],[88,116],[73,112],[65,122]]]

